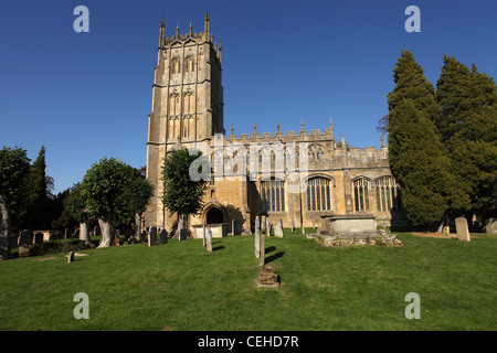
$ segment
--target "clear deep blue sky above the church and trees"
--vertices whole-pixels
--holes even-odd
[[[75,33],[76,6],[89,33]],[[408,33],[408,6],[421,32]],[[146,163],[159,23],[211,32],[223,49],[224,128],[235,135],[324,130],[356,147],[380,145],[393,68],[409,50],[434,85],[443,54],[497,76],[497,1],[2,0],[0,147],[35,159],[46,148],[55,192],[103,157]]]

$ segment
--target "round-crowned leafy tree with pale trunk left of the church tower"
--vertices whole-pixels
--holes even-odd
[[[110,246],[113,222],[134,217],[148,204],[154,192],[150,182],[142,179],[139,171],[114,158],[103,158],[94,163],[83,178],[81,188],[86,212],[98,218],[102,229],[99,247]]]

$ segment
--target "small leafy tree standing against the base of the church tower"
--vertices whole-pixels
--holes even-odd
[[[171,215],[178,214],[179,231],[188,227],[189,214],[197,214],[202,208],[205,181],[190,178],[190,167],[203,158],[200,151],[198,153],[190,156],[186,149],[176,150],[168,154],[162,168],[162,204]]]

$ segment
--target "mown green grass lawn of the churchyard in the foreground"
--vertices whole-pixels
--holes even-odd
[[[0,263],[0,330],[496,330],[497,237],[400,234],[403,247],[266,238],[279,288],[257,288],[254,236],[89,249]],[[40,259],[55,257],[55,259]],[[76,320],[74,295],[89,297]],[[421,298],[408,320],[404,298]]]

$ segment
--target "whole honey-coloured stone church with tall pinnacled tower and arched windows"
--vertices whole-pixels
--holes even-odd
[[[146,178],[155,195],[142,216],[145,226],[168,232],[177,224],[163,210],[161,168],[176,149],[198,148],[214,167],[203,208],[188,225],[208,224],[219,234],[251,234],[255,217],[284,227],[317,227],[325,215],[368,214],[377,226],[405,224],[400,186],[392,176],[388,147],[364,149],[337,140],[331,119],[324,130],[257,132],[236,136],[223,124],[222,49],[210,32],[165,36],[159,30],[158,61],[148,118]],[[203,148],[199,148],[202,146]],[[233,152],[233,150],[237,152]],[[243,152],[243,153],[242,153]],[[236,157],[237,163],[230,164]],[[221,169],[216,169],[221,165]],[[232,168],[222,168],[231,165]],[[218,172],[221,170],[221,172]]]

